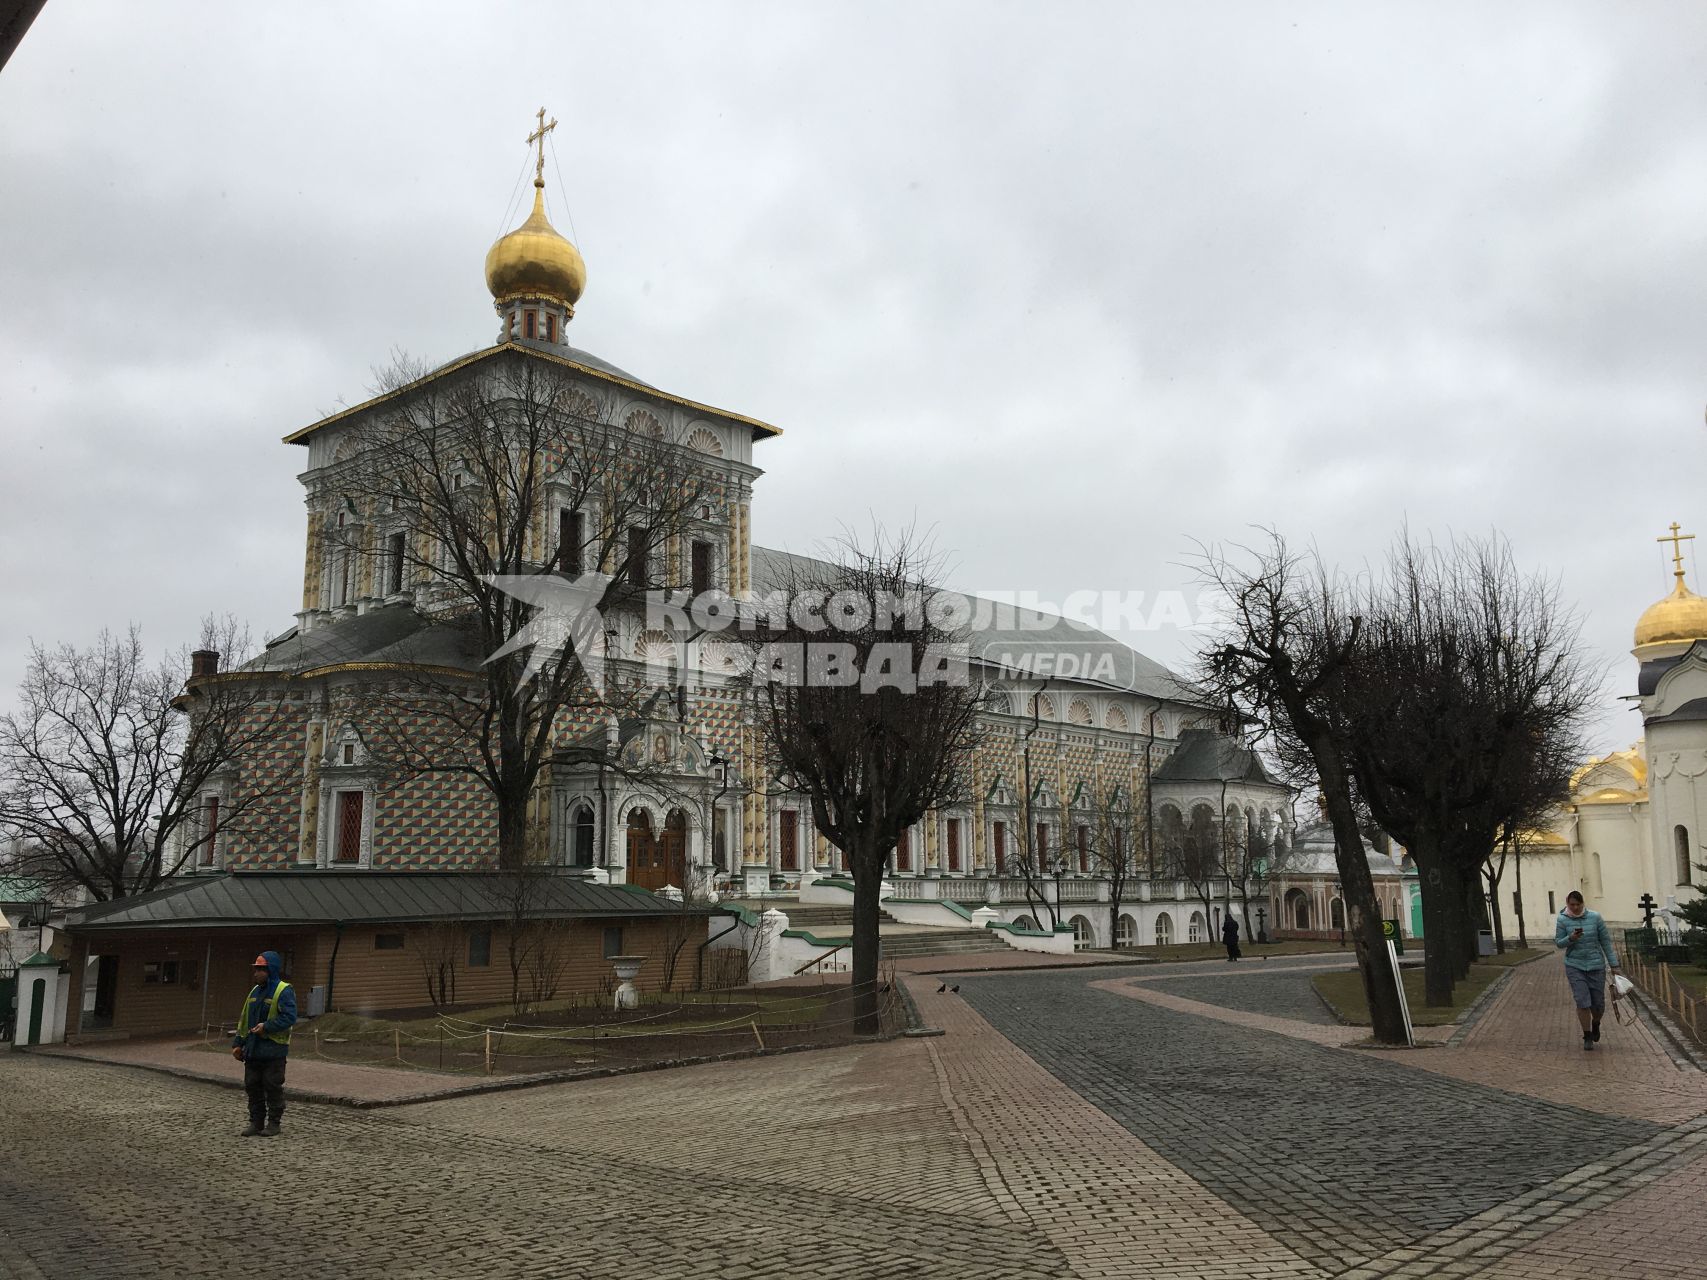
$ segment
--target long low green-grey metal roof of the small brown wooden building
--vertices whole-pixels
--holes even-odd
[[[541,872],[529,886],[529,916],[705,915],[628,884],[594,884]],[[244,925],[411,923],[502,920],[512,913],[516,877],[498,872],[251,870],[193,876],[154,893],[68,913],[73,934],[119,928],[236,928]]]

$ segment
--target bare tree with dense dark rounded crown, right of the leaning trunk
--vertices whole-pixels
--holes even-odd
[[[1444,1005],[1477,954],[1487,860],[1567,795],[1599,672],[1558,585],[1519,570],[1500,538],[1401,534],[1354,608],[1338,717],[1359,794],[1417,860],[1427,1002]]]

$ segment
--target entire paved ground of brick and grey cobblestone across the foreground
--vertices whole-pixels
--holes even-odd
[[[1647,1029],[1582,1053],[1541,961],[1372,1053],[1309,971],[910,978],[942,1038],[295,1104],[265,1142],[227,1089],[0,1055],[0,1280],[1702,1273],[1707,1085]]]

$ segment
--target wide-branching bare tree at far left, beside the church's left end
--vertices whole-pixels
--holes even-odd
[[[288,770],[237,778],[288,715],[241,674],[212,672],[246,650],[229,618],[203,621],[196,676],[191,654],[150,660],[137,626],[89,649],[32,645],[19,708],[0,717],[0,831],[20,845],[19,870],[97,901],[147,893],[299,794]]]

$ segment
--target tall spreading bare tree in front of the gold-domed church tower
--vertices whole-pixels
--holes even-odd
[[[311,497],[335,599],[406,597],[423,616],[369,686],[370,748],[396,773],[483,785],[497,862],[516,869],[560,727],[644,696],[604,678],[609,616],[703,585],[693,543],[725,538],[722,478],[644,410],[604,420],[548,355],[437,375],[399,360],[382,382],[391,398],[347,427]]]

